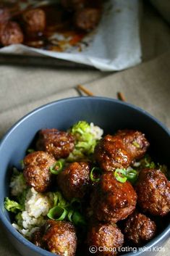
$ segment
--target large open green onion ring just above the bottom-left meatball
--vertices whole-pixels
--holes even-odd
[[[48,212],[48,218],[51,220],[64,220],[67,217],[68,211],[61,206],[55,206]]]

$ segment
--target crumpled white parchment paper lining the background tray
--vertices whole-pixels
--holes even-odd
[[[75,48],[66,52],[46,51],[17,44],[1,48],[0,53],[43,54],[103,71],[123,70],[141,61],[139,6],[138,0],[107,1],[98,28],[85,38],[89,46],[81,52]]]

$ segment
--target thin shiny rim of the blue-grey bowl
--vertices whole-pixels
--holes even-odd
[[[47,104],[43,104],[40,107],[35,108],[35,110],[32,110],[31,112],[28,112],[27,115],[24,115],[23,117],[21,117],[16,123],[14,123],[14,125],[12,125],[11,128],[9,128],[7,130],[7,132],[5,133],[5,135],[1,138],[1,142],[0,142],[0,152],[1,152],[1,147],[3,146],[3,144],[5,143],[5,141],[8,139],[8,137],[10,136],[10,134],[17,128],[17,126],[19,126],[22,122],[24,122],[27,118],[31,117],[32,115],[34,115],[36,112],[39,112],[41,110],[44,110],[48,107],[53,107],[55,104],[59,104],[59,103],[64,103],[64,102],[74,102],[74,101],[85,101],[86,99],[90,99],[91,101],[106,101],[106,102],[115,102],[116,104],[122,104],[132,110],[135,110],[137,112],[140,112],[140,114],[142,115],[146,115],[148,116],[151,120],[153,120],[153,122],[157,123],[159,126],[161,126],[161,128],[168,133],[168,135],[170,136],[170,131],[169,128],[166,127],[166,125],[163,125],[163,123],[161,123],[161,121],[159,121],[156,117],[153,117],[153,115],[150,115],[150,113],[146,112],[145,110],[143,110],[140,107],[135,106],[134,104],[130,104],[128,102],[121,102],[118,99],[112,99],[109,97],[103,97],[103,96],[75,96],[75,97],[69,97],[66,99],[59,99],[53,102],[48,102]],[[42,256],[52,256],[54,255],[54,253],[48,252],[45,249],[42,249],[41,247],[37,247],[35,246],[35,244],[33,244],[32,242],[30,242],[29,240],[25,239],[24,236],[22,236],[22,234],[20,234],[13,226],[12,223],[9,223],[9,220],[7,220],[7,218],[4,216],[3,214],[3,210],[0,208],[0,221],[3,224],[3,226],[5,228],[7,228],[7,231],[9,231],[10,234],[12,234],[12,236],[14,236],[15,239],[17,239],[17,241],[19,241],[20,243],[24,244],[26,247],[29,247],[30,249],[32,249],[34,252],[39,253]],[[151,241],[149,241],[147,244],[145,244],[144,247],[147,247],[148,249],[150,249],[151,247],[156,246],[156,244],[158,244],[160,241],[163,241],[164,238],[166,238],[166,236],[168,237],[168,234],[170,234],[170,224],[169,226],[167,226],[162,232],[161,234],[159,234],[158,236],[154,237],[153,239],[151,239]],[[143,247],[143,248],[144,248]],[[142,248],[142,247],[141,247]],[[137,252],[127,252],[124,254],[124,256],[137,256],[143,253],[143,250],[139,250],[137,249]]]

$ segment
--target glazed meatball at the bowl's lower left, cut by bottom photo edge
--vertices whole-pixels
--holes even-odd
[[[75,227],[67,221],[47,220],[39,231],[35,231],[32,241],[61,256],[74,256],[77,247]]]

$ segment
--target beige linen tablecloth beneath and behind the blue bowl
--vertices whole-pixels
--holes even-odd
[[[116,98],[117,91],[122,91],[127,102],[143,107],[170,127],[169,70],[170,51],[137,67],[104,77],[98,71],[69,70],[62,73],[1,67],[0,134],[2,136],[7,128],[35,107],[69,96],[80,96],[75,86],[85,82],[96,96]],[[169,255],[170,240],[164,249],[159,256]],[[19,255],[7,241],[3,229],[0,229],[0,255]]]

